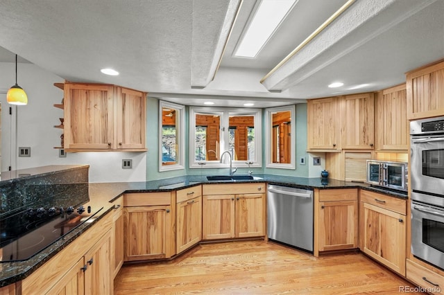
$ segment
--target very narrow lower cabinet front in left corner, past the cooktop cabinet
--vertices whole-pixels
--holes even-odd
[[[117,199],[114,204],[111,232],[111,279],[119,273],[123,265],[123,197]]]

